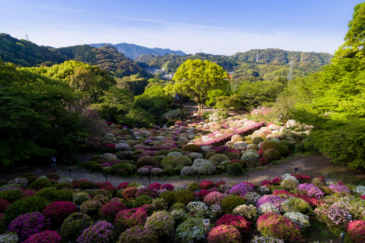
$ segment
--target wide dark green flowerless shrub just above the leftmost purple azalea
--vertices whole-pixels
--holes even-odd
[[[5,222],[10,223],[19,215],[28,212],[42,212],[50,202],[40,196],[31,196],[15,201],[5,210]]]

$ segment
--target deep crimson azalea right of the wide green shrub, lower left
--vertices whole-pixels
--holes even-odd
[[[43,214],[54,223],[62,223],[77,207],[70,201],[55,201],[46,206]]]

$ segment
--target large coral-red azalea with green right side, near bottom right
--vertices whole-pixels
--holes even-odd
[[[274,213],[261,215],[257,220],[257,230],[262,235],[283,239],[285,242],[298,242],[302,238],[297,224],[287,217]]]

